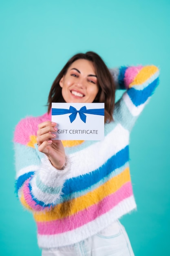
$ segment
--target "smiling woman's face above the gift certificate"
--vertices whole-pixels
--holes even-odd
[[[68,103],[91,103],[99,88],[93,62],[79,59],[71,64],[60,80],[62,96]]]

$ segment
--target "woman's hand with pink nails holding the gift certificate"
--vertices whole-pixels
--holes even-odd
[[[37,144],[38,150],[44,153],[50,160],[51,164],[61,170],[66,162],[64,146],[61,140],[51,140],[56,135],[51,132],[56,132],[57,124],[51,121],[45,121],[38,125]]]

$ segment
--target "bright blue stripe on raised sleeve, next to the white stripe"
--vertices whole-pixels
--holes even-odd
[[[131,88],[127,91],[131,101],[137,107],[146,102],[146,100],[152,95],[153,91],[157,87],[159,78],[155,79],[150,85],[148,85],[144,90],[135,90]]]

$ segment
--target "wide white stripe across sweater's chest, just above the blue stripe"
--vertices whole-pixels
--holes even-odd
[[[104,140],[96,142],[87,148],[70,154],[71,171],[68,178],[84,175],[96,170],[107,160],[126,147],[129,143],[129,132],[121,124],[117,124]],[[86,158],[84,158],[86,156]],[[77,166],[77,163],[78,166]]]

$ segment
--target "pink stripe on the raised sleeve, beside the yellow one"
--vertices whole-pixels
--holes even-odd
[[[137,67],[128,67],[125,72],[124,82],[126,89],[129,88],[130,83],[135,79],[139,71],[143,68],[143,66],[137,66]]]

